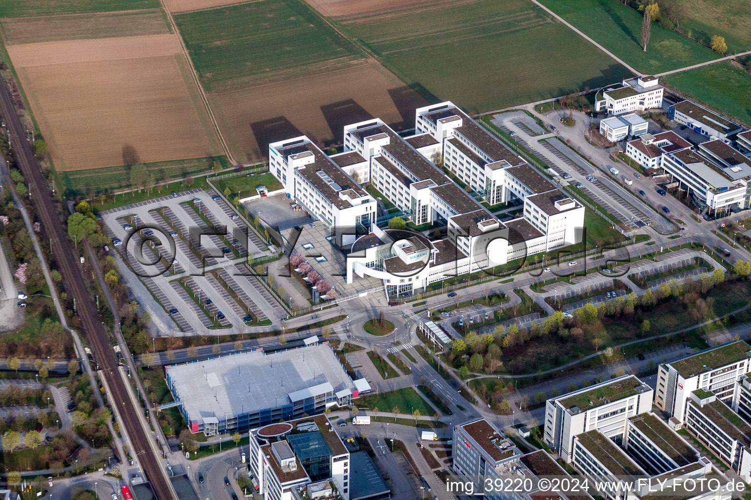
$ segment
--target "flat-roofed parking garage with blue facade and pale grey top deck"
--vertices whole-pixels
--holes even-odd
[[[193,433],[207,436],[345,406],[357,390],[327,343],[167,367],[167,386]]]

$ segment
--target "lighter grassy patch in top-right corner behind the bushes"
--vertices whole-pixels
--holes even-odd
[[[680,30],[707,45],[713,34],[725,37],[728,54],[751,50],[751,1],[680,0],[687,10]]]

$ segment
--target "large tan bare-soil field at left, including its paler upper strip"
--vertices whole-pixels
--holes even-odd
[[[223,153],[171,34],[8,52],[59,171]]]

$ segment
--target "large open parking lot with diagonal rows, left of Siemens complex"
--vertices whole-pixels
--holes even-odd
[[[245,265],[249,253],[269,255],[267,246],[213,191],[161,196],[100,215],[116,245],[110,252],[127,265],[125,281],[140,279],[161,306],[140,301],[167,325],[159,334],[238,333],[286,316]]]

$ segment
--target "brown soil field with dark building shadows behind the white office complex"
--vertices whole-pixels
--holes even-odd
[[[424,100],[375,61],[285,82],[210,94],[222,135],[236,160],[267,156],[269,142],[307,135],[340,143],[345,124],[382,118],[399,130],[415,126]]]

